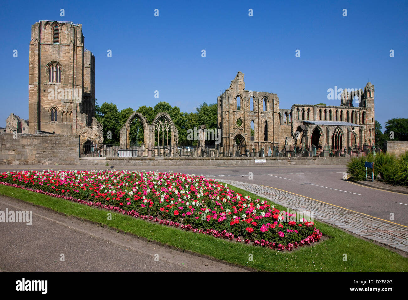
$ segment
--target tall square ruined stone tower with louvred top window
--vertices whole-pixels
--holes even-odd
[[[40,20],[31,26],[29,131],[79,135],[102,142],[95,119],[95,56],[82,24]]]

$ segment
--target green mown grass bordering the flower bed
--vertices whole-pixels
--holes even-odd
[[[231,185],[228,185],[228,188],[244,196],[267,200]],[[316,227],[328,237],[326,240],[311,247],[306,246],[282,253],[246,245],[243,242],[230,242],[167,227],[114,212],[111,212],[112,220],[108,220],[109,211],[2,184],[0,194],[49,207],[67,216],[77,216],[149,240],[262,271],[408,271],[408,258],[316,221]],[[272,204],[278,209],[284,209],[278,204]],[[253,261],[248,260],[250,254]],[[347,261],[343,261],[344,254],[347,254]]]

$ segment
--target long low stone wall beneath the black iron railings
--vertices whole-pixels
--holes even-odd
[[[253,158],[80,158],[80,164],[108,165],[108,166],[319,166],[341,165],[345,166],[350,157],[298,157],[298,158],[264,158],[265,162],[255,162]],[[258,160],[257,161],[263,161]]]

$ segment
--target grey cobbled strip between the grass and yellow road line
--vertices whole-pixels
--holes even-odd
[[[364,238],[375,240],[381,244],[386,244],[408,253],[408,228],[406,227],[369,218],[361,213],[354,213],[347,209],[310,200],[263,185],[226,180],[224,178],[216,180],[250,191],[290,210],[313,211],[316,220],[335,225]]]

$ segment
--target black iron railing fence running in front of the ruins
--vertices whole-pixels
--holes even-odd
[[[284,145],[273,143],[248,143],[215,146],[157,146],[142,145],[121,147],[120,145],[93,144],[83,147],[81,157],[316,157],[316,156],[364,156],[386,152],[381,146],[354,146],[339,149],[324,146]]]

